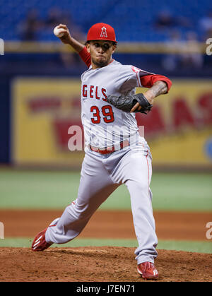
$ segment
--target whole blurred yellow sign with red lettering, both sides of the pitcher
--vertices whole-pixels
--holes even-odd
[[[211,167],[212,81],[172,83],[148,115],[136,114],[138,125],[145,126],[153,165]],[[81,167],[84,151],[68,147],[70,126],[82,129],[79,79],[16,78],[11,88],[13,163]]]

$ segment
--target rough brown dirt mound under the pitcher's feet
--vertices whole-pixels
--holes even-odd
[[[0,281],[141,282],[134,248],[0,248]],[[158,250],[159,281],[212,281],[212,254]]]

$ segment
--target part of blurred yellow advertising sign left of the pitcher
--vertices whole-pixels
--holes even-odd
[[[70,126],[81,126],[81,83],[70,78],[16,78],[12,85],[12,160],[17,165],[78,167]]]

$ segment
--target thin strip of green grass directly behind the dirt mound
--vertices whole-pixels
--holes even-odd
[[[32,238],[6,238],[0,239],[0,247],[31,247]],[[73,239],[67,244],[53,244],[52,247],[101,247],[101,246],[115,246],[115,247],[137,247],[136,239]],[[174,241],[174,240],[159,240],[157,249],[167,249],[176,251],[192,251],[198,253],[212,254],[211,242],[199,241]]]

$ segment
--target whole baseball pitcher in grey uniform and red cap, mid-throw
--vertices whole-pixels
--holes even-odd
[[[112,54],[117,40],[110,25],[93,25],[86,45],[74,40],[66,25],[57,28],[61,41],[71,45],[88,66],[81,75],[85,157],[76,200],[65,208],[60,218],[36,235],[32,249],[43,251],[53,243],[63,244],[77,237],[107,197],[125,184],[138,240],[137,271],[143,278],[157,279],[151,152],[139,134],[135,112],[148,116],[155,97],[167,93],[172,83],[165,76],[115,61]],[[136,95],[136,88],[142,86],[148,90]]]

